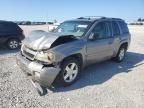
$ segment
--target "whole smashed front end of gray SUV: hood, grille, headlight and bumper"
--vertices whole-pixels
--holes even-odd
[[[51,87],[61,71],[60,66],[56,65],[57,58],[62,59],[52,48],[74,40],[76,38],[70,35],[33,31],[22,43],[21,53],[16,57],[17,64],[31,77],[32,82]]]

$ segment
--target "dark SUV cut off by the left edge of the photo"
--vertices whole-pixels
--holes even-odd
[[[10,49],[17,49],[23,39],[23,30],[17,24],[0,21],[0,44],[5,44]]]

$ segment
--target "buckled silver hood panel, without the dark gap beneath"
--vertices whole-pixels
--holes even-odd
[[[34,50],[49,49],[54,41],[62,34],[48,33],[41,30],[32,31],[23,41],[23,44]]]

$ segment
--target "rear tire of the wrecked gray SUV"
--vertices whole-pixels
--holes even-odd
[[[127,51],[126,46],[122,45],[122,46],[119,48],[119,51],[118,51],[118,53],[117,53],[117,56],[114,58],[114,60],[115,60],[116,62],[122,62],[122,61],[124,60],[124,58],[125,58],[126,51]],[[123,54],[122,54],[123,56],[121,56],[121,53],[123,53]]]

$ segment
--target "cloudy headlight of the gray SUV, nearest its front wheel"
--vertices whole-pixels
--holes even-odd
[[[36,59],[43,62],[52,63],[55,59],[55,56],[51,52],[40,52],[36,55]]]

